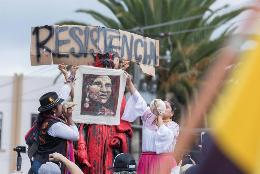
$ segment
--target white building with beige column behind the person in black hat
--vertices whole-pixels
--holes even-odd
[[[0,173],[16,170],[16,146],[26,146],[25,134],[37,117],[39,98],[51,91],[59,92],[65,80],[60,77],[55,85],[53,78],[44,77],[1,77],[0,81]],[[23,173],[27,173],[31,164],[27,153],[21,153]]]

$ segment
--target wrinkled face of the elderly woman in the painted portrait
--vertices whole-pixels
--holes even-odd
[[[112,89],[111,79],[108,75],[99,75],[89,86],[89,98],[99,103],[107,103]]]

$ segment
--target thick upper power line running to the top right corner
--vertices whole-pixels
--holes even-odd
[[[246,3],[240,3],[240,4],[236,5],[236,6],[230,7],[229,9],[226,8],[226,9],[219,10],[216,13],[213,13],[213,14],[219,14],[220,12],[222,12],[223,14],[224,13],[228,13],[228,12],[231,12],[231,11],[234,11],[234,10],[238,10],[238,9],[244,7],[244,6],[241,6],[242,4],[253,4],[253,3],[257,2],[257,1],[259,1],[259,0],[246,2]],[[237,6],[239,6],[239,7],[237,7]],[[191,16],[191,17],[186,17],[186,18],[182,18],[182,19],[172,20],[172,21],[169,21],[169,22],[163,22],[163,23],[159,23],[159,24],[153,24],[153,25],[149,25],[149,26],[145,26],[145,27],[135,27],[135,28],[132,28],[132,29],[127,29],[125,31],[137,31],[137,30],[145,30],[145,29],[163,27],[163,26],[167,26],[167,25],[171,25],[171,24],[187,22],[187,21],[194,20],[194,19],[200,19],[200,18],[202,18],[204,16],[207,17],[207,16],[210,16],[210,15],[212,15],[212,13],[210,13],[210,14],[204,14],[203,13],[203,14],[194,15],[194,16]]]

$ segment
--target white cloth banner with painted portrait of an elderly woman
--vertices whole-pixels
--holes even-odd
[[[79,66],[72,112],[75,123],[120,124],[120,108],[126,75],[122,70]]]

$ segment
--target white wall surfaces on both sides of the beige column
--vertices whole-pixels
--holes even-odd
[[[13,81],[13,77],[3,77],[0,81],[0,112],[3,113],[2,132],[1,132],[1,149],[0,149],[0,173],[9,173],[10,162],[15,161],[16,157],[11,159],[10,150],[16,146],[26,146],[24,136],[31,128],[31,114],[38,114],[38,107],[40,106],[39,98],[51,91],[59,92],[64,80],[60,77],[55,85],[54,79],[57,74],[53,74],[53,78],[43,77],[24,77],[22,86],[22,110],[21,110],[21,129],[20,129],[20,144],[11,144],[12,134],[11,124],[15,120],[12,118],[12,96],[13,96],[13,83],[1,87],[1,85]],[[27,153],[22,153],[22,167],[23,173],[27,173],[30,168],[30,161]],[[16,170],[16,168],[14,168]]]

